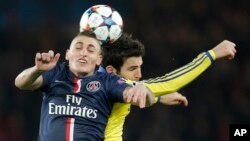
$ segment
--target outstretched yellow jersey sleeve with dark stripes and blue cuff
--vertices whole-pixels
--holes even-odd
[[[176,92],[202,74],[202,72],[212,64],[215,58],[215,53],[209,50],[199,54],[192,62],[179,69],[161,77],[143,80],[142,82],[155,96]]]

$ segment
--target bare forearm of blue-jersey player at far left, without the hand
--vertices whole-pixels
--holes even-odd
[[[15,79],[15,85],[19,89],[34,90],[42,84],[42,72],[36,69],[36,66],[25,69]]]

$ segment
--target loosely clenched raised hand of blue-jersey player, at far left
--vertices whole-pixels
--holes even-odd
[[[54,51],[50,50],[48,53],[36,53],[35,64],[36,69],[40,72],[51,70],[56,66],[60,54],[54,56]]]

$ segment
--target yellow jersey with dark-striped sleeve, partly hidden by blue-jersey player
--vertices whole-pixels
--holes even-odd
[[[143,80],[142,82],[156,97],[173,93],[192,82],[204,72],[215,60],[215,53],[210,50],[199,54],[187,65],[161,77]],[[123,125],[130,112],[131,104],[115,103],[105,128],[104,141],[122,141]]]

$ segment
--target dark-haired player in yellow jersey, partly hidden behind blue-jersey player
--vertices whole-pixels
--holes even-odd
[[[102,65],[104,71],[116,73],[125,79],[138,81],[141,75],[144,45],[124,33],[111,46],[103,48]],[[236,53],[235,44],[223,41],[212,50],[199,54],[192,62],[176,69],[162,77],[143,80],[155,96],[173,93],[185,86],[204,72],[216,59],[227,57],[233,59]],[[180,101],[187,104],[186,98],[178,93],[163,95],[156,101],[163,104],[178,104]],[[123,125],[130,112],[130,104],[116,103],[113,106],[105,129],[105,141],[122,141]]]

